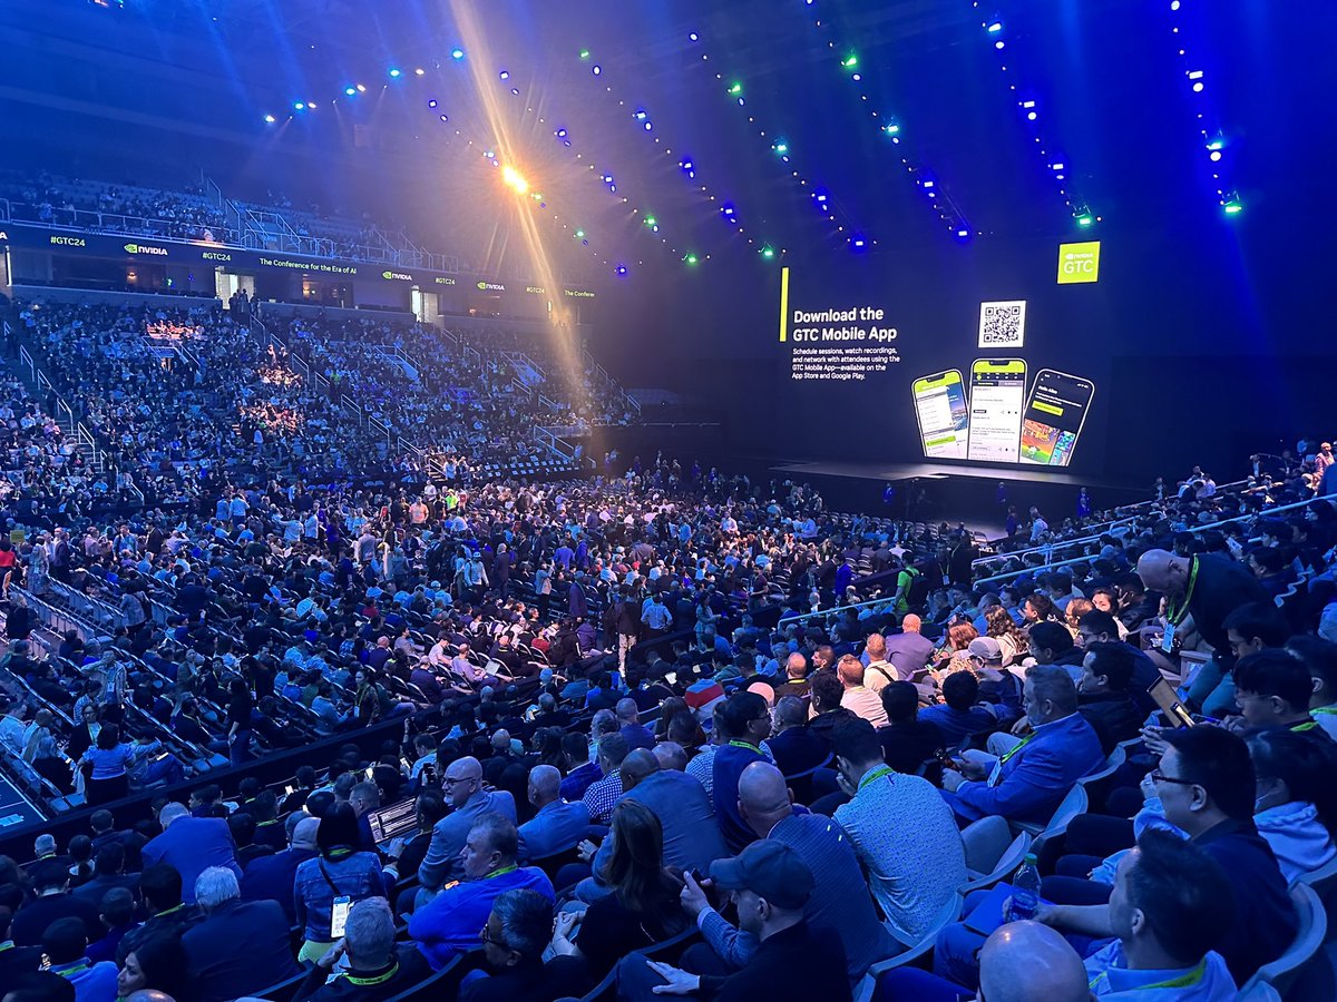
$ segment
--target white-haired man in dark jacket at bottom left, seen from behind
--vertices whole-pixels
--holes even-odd
[[[195,879],[205,921],[180,945],[198,1002],[230,1002],[298,973],[289,923],[277,900],[243,902],[237,874],[211,866]]]

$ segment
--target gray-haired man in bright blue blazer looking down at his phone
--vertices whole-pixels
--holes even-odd
[[[1034,665],[1021,688],[1031,733],[993,759],[967,752],[943,771],[943,796],[959,819],[999,815],[1008,820],[1048,822],[1059,802],[1104,762],[1100,739],[1078,713],[1078,688],[1060,665]]]

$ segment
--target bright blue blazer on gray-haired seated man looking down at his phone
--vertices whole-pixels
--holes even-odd
[[[1001,764],[999,782],[967,782],[943,796],[967,820],[1001,815],[1044,824],[1072,786],[1104,762],[1100,739],[1080,713],[1038,728],[1035,737]]]

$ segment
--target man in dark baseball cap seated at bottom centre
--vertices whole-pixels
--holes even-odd
[[[739,929],[755,935],[761,946],[742,970],[729,977],[689,974],[648,961],[644,966],[654,974],[636,978],[628,977],[632,971],[624,966],[622,986],[632,989],[632,998],[689,994],[718,1002],[850,998],[840,938],[829,929],[809,929],[804,919],[804,904],[816,884],[812,870],[793,848],[770,839],[754,842],[737,856],[711,863],[710,883],[729,892],[738,910]]]

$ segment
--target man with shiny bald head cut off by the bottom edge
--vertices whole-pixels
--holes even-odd
[[[980,947],[980,998],[988,1002],[1092,1002],[1090,975],[1068,941],[1039,922],[1000,926]],[[915,967],[878,979],[885,998],[956,1002],[960,985]]]

